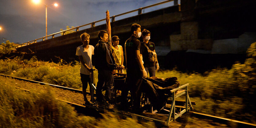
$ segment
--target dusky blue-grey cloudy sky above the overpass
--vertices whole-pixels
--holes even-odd
[[[101,20],[109,10],[110,17],[164,0],[41,0],[42,3],[59,6],[48,6],[48,35],[66,29],[66,26],[80,26]],[[142,10],[147,13],[156,9],[172,6],[168,2],[159,6]],[[137,12],[116,17],[121,18],[137,15]],[[2,38],[14,43],[25,43],[45,36],[45,6],[34,4],[32,0],[1,0],[0,2],[0,41]],[[104,24],[104,22],[95,25]],[[89,27],[89,26],[88,26]],[[81,29],[80,29],[81,30]]]

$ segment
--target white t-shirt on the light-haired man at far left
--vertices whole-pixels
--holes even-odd
[[[92,65],[92,55],[94,55],[94,47],[92,45],[89,45],[88,49],[85,49],[82,45],[77,47],[75,55],[78,55],[78,56],[82,55],[83,61],[85,62],[85,64],[88,67],[93,68],[93,65]],[[82,64],[81,64],[81,67],[80,67],[80,73],[86,74],[86,75],[90,75],[91,74],[87,70],[87,68],[85,66],[83,66]]]

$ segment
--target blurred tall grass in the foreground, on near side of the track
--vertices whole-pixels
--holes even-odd
[[[102,118],[78,115],[67,103],[55,99],[51,90],[15,88],[12,81],[0,78],[1,127],[154,127],[153,122],[140,122],[105,113]]]

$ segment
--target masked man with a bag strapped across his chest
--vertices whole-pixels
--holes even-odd
[[[143,62],[144,62],[143,65],[144,65],[147,73],[149,72],[149,76],[155,77],[155,71],[159,70],[159,64],[158,64],[157,59],[156,59],[156,62],[150,62],[148,59],[147,47],[151,51],[155,52],[155,43],[149,41],[150,35],[151,35],[151,33],[147,29],[143,29],[143,31],[142,31],[143,42],[141,42],[141,44],[140,44],[140,55],[143,58]]]

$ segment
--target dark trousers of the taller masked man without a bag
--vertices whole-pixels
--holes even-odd
[[[140,107],[140,85],[142,83],[142,72],[139,69],[127,69],[127,88],[122,91],[122,106],[127,105],[128,91],[132,92],[133,97],[133,109],[136,110]]]

